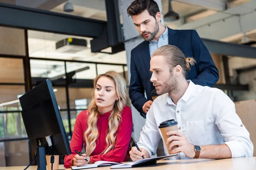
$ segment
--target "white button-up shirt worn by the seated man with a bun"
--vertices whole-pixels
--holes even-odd
[[[163,136],[158,126],[161,122],[175,119],[178,131],[198,146],[225,143],[230,148],[232,158],[253,156],[250,134],[236,114],[235,104],[221,90],[195,85],[189,86],[175,105],[168,93],[158,96],[146,114],[146,122],[140,133],[140,148],[154,155]],[[166,145],[165,154],[168,155]],[[183,152],[172,159],[189,159]]]

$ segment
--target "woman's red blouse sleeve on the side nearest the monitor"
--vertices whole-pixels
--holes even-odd
[[[64,158],[64,167],[65,168],[70,168],[73,165],[73,159],[75,155],[77,154],[75,150],[81,152],[83,149],[83,131],[82,131],[82,126],[81,126],[81,119],[82,119],[82,112],[79,113],[79,115],[76,118],[76,122],[74,125],[74,130],[73,130],[73,135],[72,139],[70,142],[70,149],[71,149],[71,154],[65,156]]]

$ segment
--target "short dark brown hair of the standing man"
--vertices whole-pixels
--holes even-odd
[[[157,3],[154,0],[134,0],[127,8],[127,14],[130,16],[141,14],[148,10],[148,13],[156,18],[157,12],[160,12]]]

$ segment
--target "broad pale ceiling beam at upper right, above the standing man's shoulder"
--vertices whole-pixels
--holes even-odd
[[[210,15],[176,29],[195,29],[200,37],[221,40],[256,28],[256,0]]]

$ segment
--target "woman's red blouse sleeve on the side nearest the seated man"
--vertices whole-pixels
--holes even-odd
[[[131,109],[126,106],[122,113],[122,122],[119,124],[116,132],[116,144],[113,150],[106,154],[99,154],[90,156],[90,163],[96,161],[113,161],[122,162],[128,153],[128,148],[131,140],[132,132],[132,115]]]

